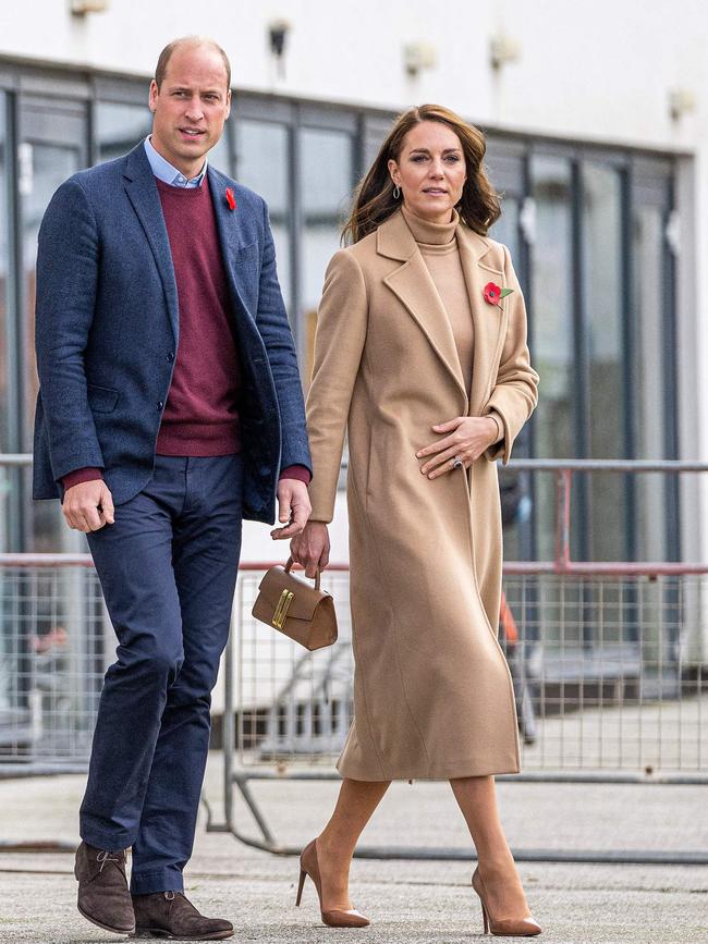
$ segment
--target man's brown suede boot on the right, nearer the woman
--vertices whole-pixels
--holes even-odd
[[[133,895],[135,937],[171,941],[221,941],[233,936],[233,924],[223,918],[205,918],[183,892]]]

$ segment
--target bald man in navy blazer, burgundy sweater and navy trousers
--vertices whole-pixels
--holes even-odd
[[[310,510],[267,209],[206,160],[230,85],[216,42],[170,44],[151,136],[57,191],[37,261],[35,498],[63,498],[87,535],[119,640],[81,808],[78,908],[176,940],[233,934],[184,897],[182,871],[241,522],[272,522],[276,487],[273,538],[300,534]]]

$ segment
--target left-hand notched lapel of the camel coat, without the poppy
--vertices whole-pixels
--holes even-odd
[[[402,266],[386,275],[383,282],[403,304],[428,339],[430,346],[462,394],[466,413],[467,391],[465,390],[450,320],[425,259],[401,212],[390,217],[379,226],[377,252],[390,259],[398,259],[403,262]]]

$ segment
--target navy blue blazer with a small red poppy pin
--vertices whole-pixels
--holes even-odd
[[[207,180],[243,370],[244,517],[272,523],[280,470],[312,470],[295,348],[265,201],[211,167]],[[145,487],[178,339],[172,254],[141,143],[63,183],[39,230],[35,499],[61,498],[61,478],[86,466],[103,470],[117,505]]]

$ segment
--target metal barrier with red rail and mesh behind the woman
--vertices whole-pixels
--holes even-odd
[[[686,659],[705,632],[708,565],[575,563],[570,557],[573,471],[706,471],[696,463],[522,461],[554,471],[557,554],[504,567],[504,590],[520,630],[506,646],[522,731],[522,770],[499,780],[574,783],[706,784],[708,691],[701,666]],[[324,586],[338,604],[340,639],[308,653],[257,623],[251,610],[268,565],[242,567],[234,632],[225,655],[224,811],[215,831],[269,851],[281,845],[251,789],[263,780],[338,780],[333,761],[352,712],[353,658],[345,567]],[[234,819],[236,787],[260,837]],[[363,848],[365,857],[456,858],[459,850]],[[701,853],[607,854],[514,850],[517,859],[708,862]]]

